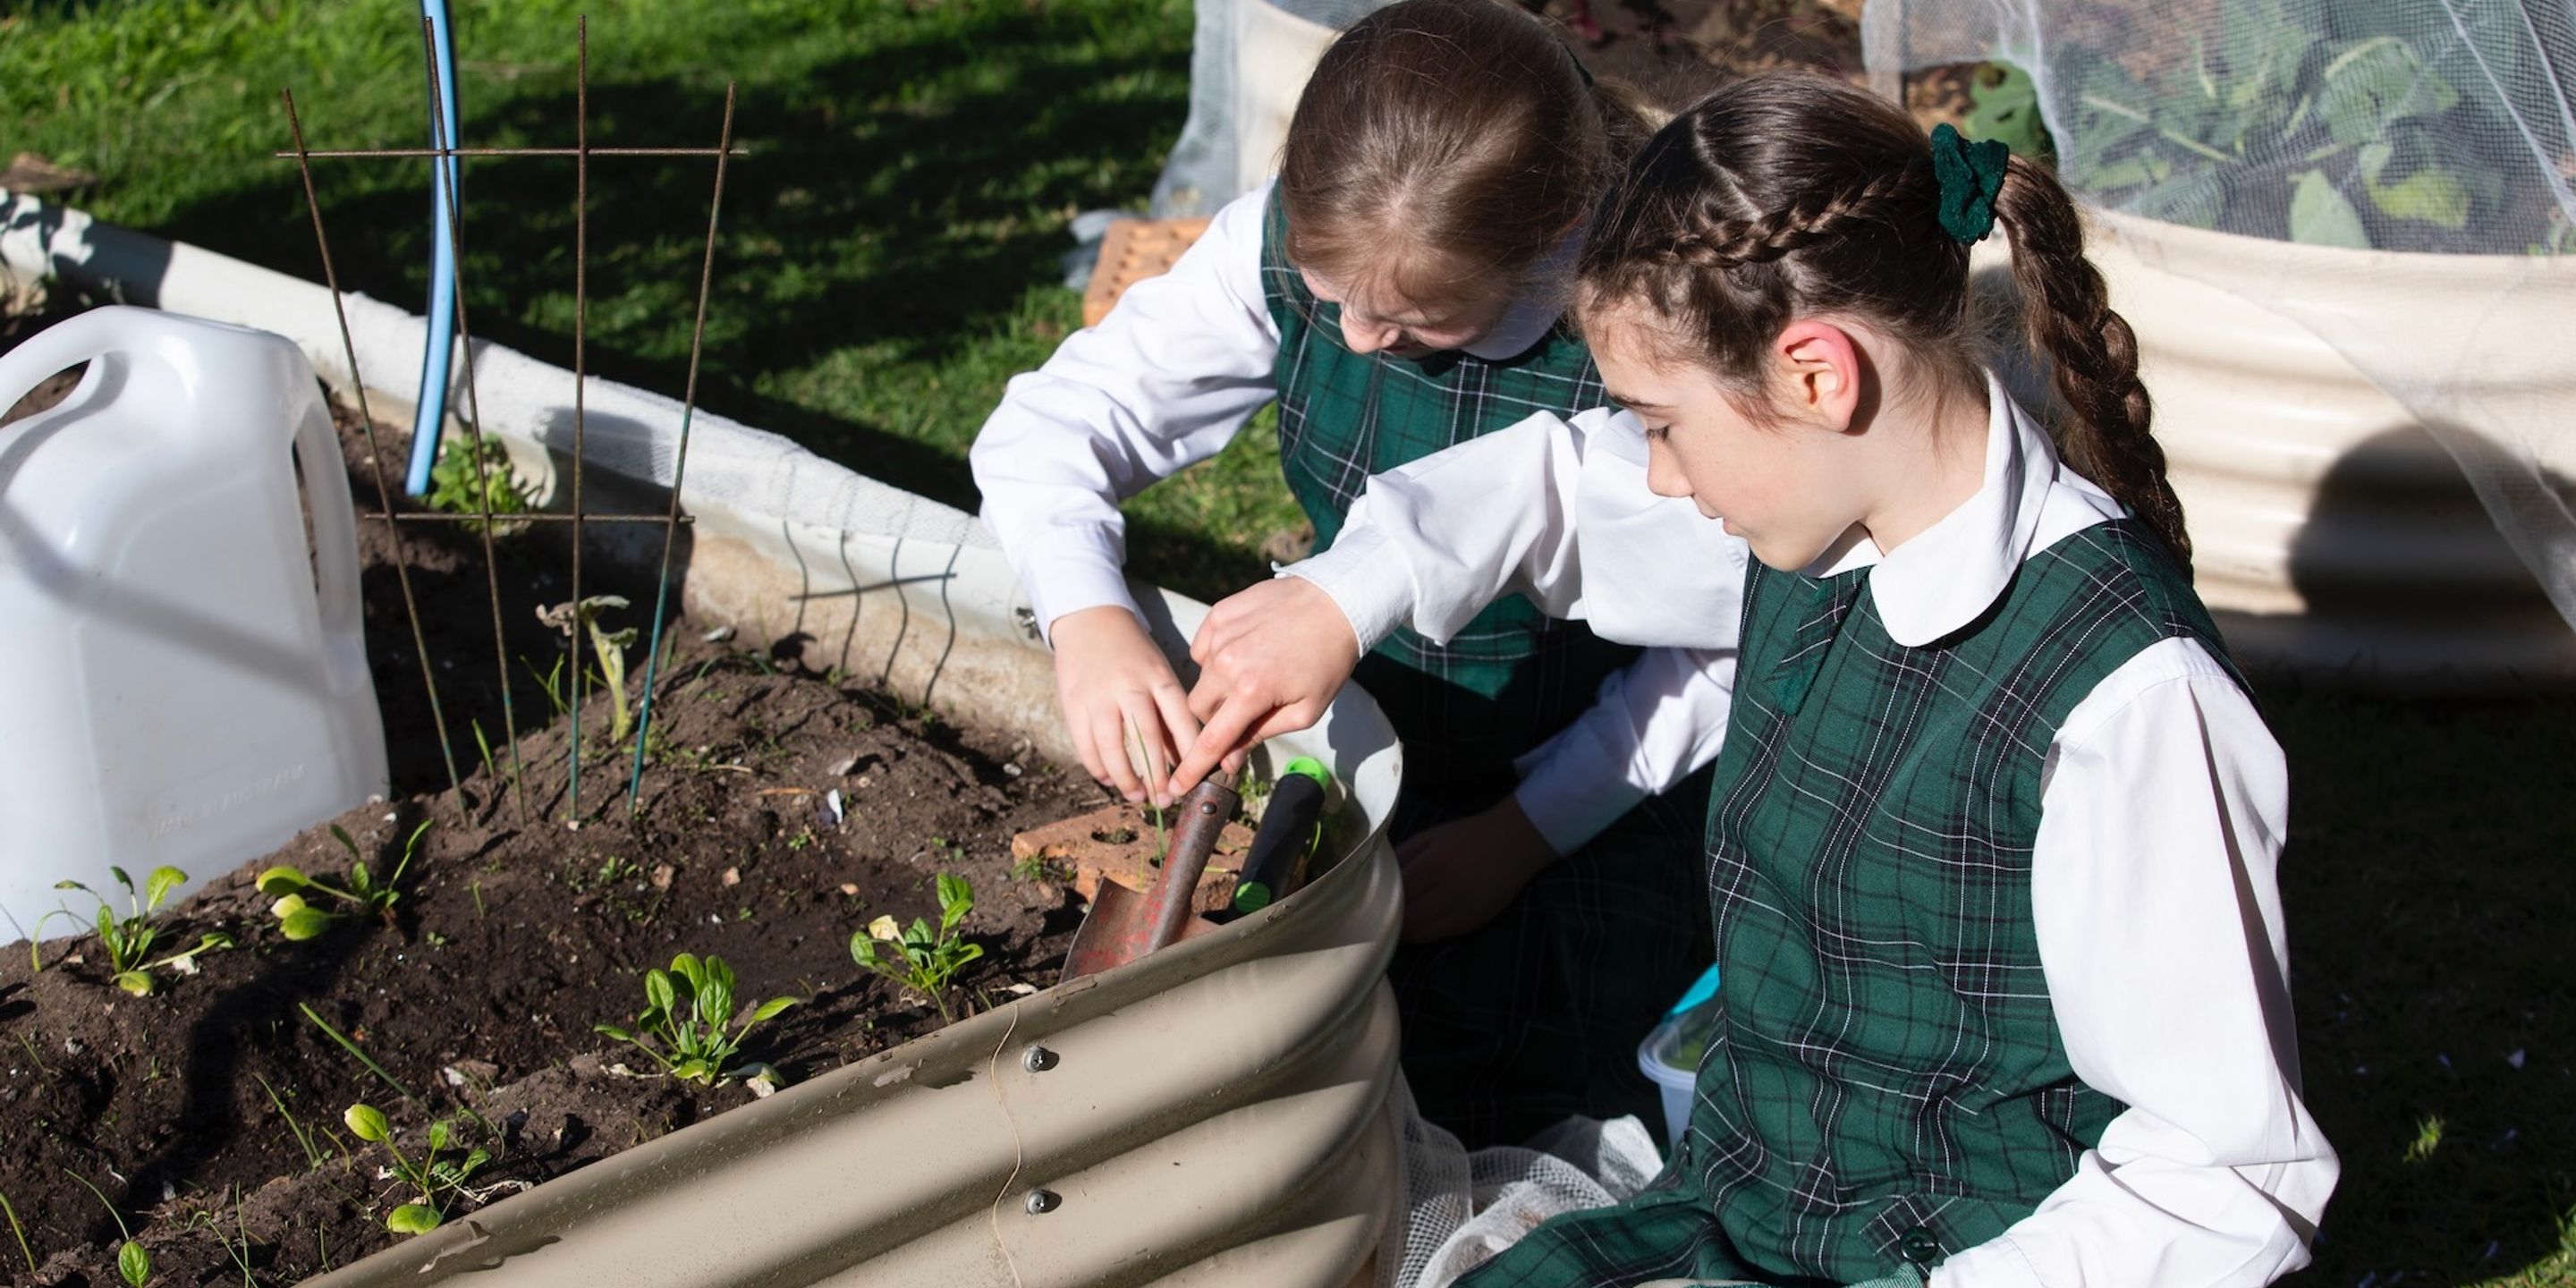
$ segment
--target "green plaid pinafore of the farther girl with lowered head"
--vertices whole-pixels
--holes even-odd
[[[1314,523],[1314,549],[1332,549],[1370,474],[1533,412],[1574,415],[1607,402],[1592,355],[1564,330],[1507,361],[1352,353],[1342,345],[1342,307],[1314,299],[1288,263],[1285,234],[1288,211],[1273,193],[1262,294],[1280,330],[1280,469]],[[1448,644],[1399,629],[1363,659],[1358,680],[1414,752],[1406,781],[1458,809],[1481,809],[1512,791],[1515,755],[1564,729],[1636,657],[1510,595]]]

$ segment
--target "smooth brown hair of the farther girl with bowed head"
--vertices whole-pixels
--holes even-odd
[[[1409,299],[1512,294],[1662,121],[1499,0],[1399,0],[1345,31],[1280,155],[1288,258]]]

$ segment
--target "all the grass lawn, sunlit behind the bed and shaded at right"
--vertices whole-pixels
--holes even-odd
[[[469,144],[572,142],[582,5],[461,5]],[[974,505],[1002,381],[1077,322],[1074,211],[1136,206],[1180,129],[1185,0],[742,0],[590,10],[592,142],[711,144],[739,82],[701,402]],[[72,201],[319,278],[276,100],[314,147],[422,142],[412,8],[31,0],[0,15],[0,157]],[[343,278],[420,309],[425,162],[317,162]],[[598,162],[595,371],[677,392],[708,170]],[[569,162],[466,162],[479,335],[572,358]],[[1273,438],[1139,497],[1136,567],[1213,598],[1296,520]],[[2576,701],[2267,685],[2290,750],[2308,1095],[2344,1185],[2308,1283],[2576,1288]]]

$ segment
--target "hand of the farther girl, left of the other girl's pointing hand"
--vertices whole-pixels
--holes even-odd
[[[1154,770],[1180,760],[1180,750],[1198,739],[1180,675],[1136,613],[1121,605],[1064,613],[1048,639],[1056,644],[1056,701],[1074,734],[1074,755],[1103,786],[1144,801],[1162,788],[1151,781]],[[1154,804],[1172,799],[1154,796]]]

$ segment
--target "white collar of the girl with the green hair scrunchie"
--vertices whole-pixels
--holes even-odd
[[[1870,598],[1888,639],[1919,649],[1994,605],[2012,572],[2066,533],[2128,510],[2058,461],[2048,430],[1986,374],[1986,482],[1911,541],[1880,554],[1857,531],[1826,551],[1808,577],[1870,569]]]

